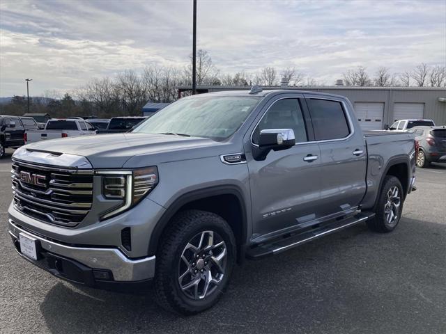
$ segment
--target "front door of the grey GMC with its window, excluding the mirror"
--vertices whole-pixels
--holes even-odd
[[[267,104],[261,120],[249,132],[245,147],[252,193],[253,239],[261,242],[318,217],[320,198],[319,147],[305,115],[302,95]],[[264,161],[252,158],[251,145],[259,143],[263,129],[293,129],[296,145],[271,151]]]

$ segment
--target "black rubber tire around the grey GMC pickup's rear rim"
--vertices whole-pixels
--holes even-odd
[[[395,205],[392,204],[388,205],[389,203],[388,196],[392,191],[392,189],[395,189],[395,187],[398,189],[398,194],[399,194],[399,205],[397,209]],[[375,210],[376,216],[367,221],[367,226],[369,227],[369,229],[381,233],[393,231],[397,227],[399,220],[401,218],[401,213],[403,212],[403,201],[404,201],[404,196],[401,182],[399,182],[397,177],[394,177],[392,175],[387,175],[384,178],[383,188],[380,191],[378,197],[378,203],[376,204],[376,210]],[[390,200],[390,202],[392,203],[392,200]],[[387,214],[390,214],[390,211],[388,210],[389,207],[392,209],[392,213],[397,212],[396,218],[394,219],[394,221],[391,222],[387,220],[388,218]]]

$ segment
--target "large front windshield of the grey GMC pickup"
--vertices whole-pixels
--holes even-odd
[[[223,140],[245,122],[261,97],[197,97],[178,100],[158,111],[133,132],[185,134]]]

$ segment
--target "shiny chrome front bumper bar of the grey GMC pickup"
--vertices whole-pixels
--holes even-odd
[[[116,281],[147,280],[155,276],[155,255],[139,260],[131,260],[116,248],[66,246],[23,230],[9,219],[9,233],[11,236],[18,239],[20,232],[40,241],[40,247],[51,253],[76,260],[90,268],[112,271]]]

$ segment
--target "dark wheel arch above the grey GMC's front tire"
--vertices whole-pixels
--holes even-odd
[[[238,261],[245,257],[247,240],[247,207],[238,186],[212,186],[185,193],[176,198],[157,222],[148,244],[148,254],[157,253],[159,241],[171,219],[185,209],[201,209],[222,216],[233,230],[237,242]]]

